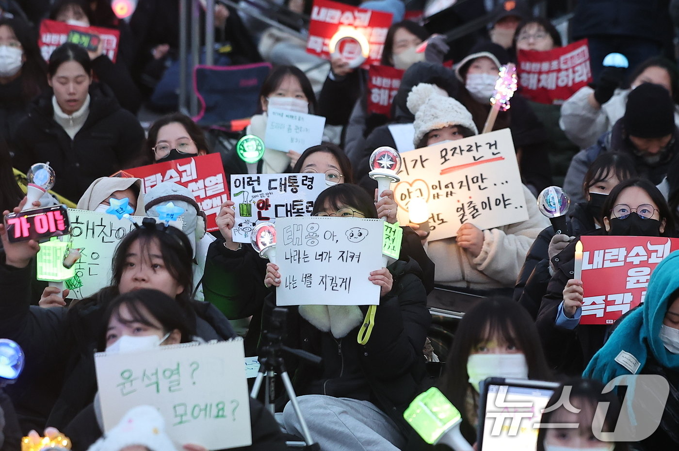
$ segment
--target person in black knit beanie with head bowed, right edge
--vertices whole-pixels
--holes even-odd
[[[673,162],[679,158],[679,128],[674,122],[676,105],[658,84],[643,83],[629,95],[625,114],[610,132],[602,134],[589,149],[579,151],[570,162],[564,190],[571,201],[582,202],[580,192],[583,175],[589,164],[606,151],[627,154],[639,176],[655,185],[663,181]]]

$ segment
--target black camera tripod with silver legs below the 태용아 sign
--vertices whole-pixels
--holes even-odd
[[[285,319],[286,319],[285,317],[287,311],[288,310],[285,308],[279,307],[274,308],[272,315],[270,317],[271,320],[270,324],[268,325],[267,330],[263,331],[262,333],[262,336],[265,340],[265,345],[261,347],[259,353],[259,363],[260,363],[259,372],[257,373],[257,378],[255,378],[255,384],[253,385],[253,389],[250,393],[250,396],[256,398],[257,395],[259,395],[259,389],[261,388],[262,382],[265,380],[266,383],[264,385],[265,390],[264,404],[265,407],[272,414],[274,414],[276,411],[275,408],[276,380],[274,375],[278,374],[278,376],[280,376],[280,379],[283,381],[285,391],[288,397],[290,398],[290,403],[293,405],[295,415],[297,416],[297,420],[299,421],[299,425],[301,427],[302,436],[304,437],[303,442],[287,441],[286,442],[287,445],[301,447],[306,451],[318,451],[320,450],[320,446],[314,443],[313,439],[311,438],[309,428],[306,425],[306,421],[301,416],[299,403],[297,403],[297,395],[295,395],[295,389],[293,389],[293,384],[290,381],[288,372],[285,369],[285,362],[283,361],[283,358],[280,357],[280,353],[281,351],[285,351],[286,353],[295,355],[300,359],[305,359],[310,363],[314,363],[316,365],[320,363],[321,359],[320,357],[313,355],[312,353],[308,353],[301,349],[289,348],[288,346],[285,346],[285,344],[282,344],[283,333],[285,331]]]

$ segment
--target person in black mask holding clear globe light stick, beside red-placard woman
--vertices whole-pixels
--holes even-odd
[[[513,299],[535,319],[540,303],[547,293],[547,285],[555,272],[552,258],[566,249],[571,237],[601,228],[603,206],[610,191],[625,179],[637,177],[634,162],[620,152],[606,152],[598,156],[585,174],[583,192],[586,202],[572,206],[566,219],[567,230],[555,234],[552,225],[545,228],[528,250],[524,266],[514,287]]]

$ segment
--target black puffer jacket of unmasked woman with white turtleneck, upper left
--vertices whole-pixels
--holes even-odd
[[[54,121],[52,95],[50,90],[37,98],[19,124],[13,162],[22,173],[33,163],[50,162],[56,173],[54,191],[77,202],[95,179],[132,167],[141,154],[144,130],[107,86],[92,84],[90,113],[71,139]]]

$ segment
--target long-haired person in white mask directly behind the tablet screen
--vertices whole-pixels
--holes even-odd
[[[460,411],[460,432],[475,443],[479,420],[479,384],[486,378],[551,380],[543,346],[530,316],[515,302],[489,297],[464,313],[437,383]],[[443,449],[411,433],[404,451]]]

